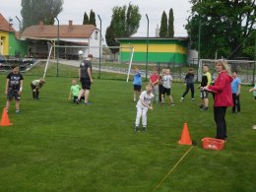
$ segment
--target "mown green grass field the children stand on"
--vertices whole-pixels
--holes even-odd
[[[183,84],[173,84],[175,106],[156,105],[148,113],[148,132],[134,133],[131,83],[95,79],[93,104],[76,105],[67,101],[71,78],[47,77],[35,101],[30,82],[39,77],[30,73],[24,74],[22,114],[12,103],[14,124],[0,127],[0,191],[155,191],[190,148],[177,144],[184,122],[198,145],[157,191],[256,191],[256,102],[249,87],[242,89],[242,112],[227,111],[224,150],[206,151],[201,139],[216,134],[213,108],[199,110],[198,92],[195,101],[186,96],[180,102]],[[5,77],[0,75],[1,108]]]

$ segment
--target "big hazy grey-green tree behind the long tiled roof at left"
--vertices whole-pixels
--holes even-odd
[[[62,5],[63,0],[22,0],[23,28],[38,25],[40,21],[53,25],[54,18],[62,11]]]

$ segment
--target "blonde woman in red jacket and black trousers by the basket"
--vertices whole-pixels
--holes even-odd
[[[225,111],[228,106],[232,106],[232,77],[229,67],[224,59],[216,62],[218,77],[214,86],[206,86],[203,89],[215,93],[214,116],[217,125],[217,139],[226,140]]]

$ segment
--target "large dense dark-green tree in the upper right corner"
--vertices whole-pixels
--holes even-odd
[[[201,57],[214,58],[216,51],[228,59],[243,57],[243,47],[247,47],[255,26],[255,0],[192,0],[191,3],[186,30],[192,48],[198,47],[201,27]]]

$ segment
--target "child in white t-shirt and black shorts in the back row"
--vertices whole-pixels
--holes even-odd
[[[172,77],[170,76],[169,69],[166,69],[165,75],[162,77],[162,93],[161,93],[161,104],[164,103],[164,95],[169,97],[170,105],[174,106],[172,96],[170,96],[170,88],[172,83]]]

